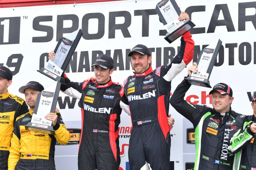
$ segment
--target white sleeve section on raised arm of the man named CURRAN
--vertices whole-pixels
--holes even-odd
[[[181,63],[179,64],[174,64],[172,63],[172,67],[169,69],[166,75],[164,75],[164,79],[168,82],[172,81],[174,77],[176,77],[182,70],[183,68],[186,67],[185,62],[182,60]]]

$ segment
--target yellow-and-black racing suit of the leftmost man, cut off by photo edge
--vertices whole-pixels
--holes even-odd
[[[27,111],[28,106],[22,98],[9,94],[8,91],[0,94],[0,170],[8,169],[13,123],[17,116]]]

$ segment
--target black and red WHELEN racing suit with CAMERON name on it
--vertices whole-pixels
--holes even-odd
[[[65,94],[79,98],[82,129],[78,154],[79,170],[118,170],[120,164],[120,100],[123,88],[110,79],[97,82],[70,82],[61,85]]]

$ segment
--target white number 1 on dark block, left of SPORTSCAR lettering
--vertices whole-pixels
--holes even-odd
[[[0,45],[20,43],[20,17],[0,17]]]

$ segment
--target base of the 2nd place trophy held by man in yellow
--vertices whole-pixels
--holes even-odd
[[[27,125],[25,125],[25,129],[26,130],[31,130],[34,132],[41,132],[41,133],[47,133],[47,134],[51,134],[54,135],[55,134],[55,130],[53,130],[52,126],[47,126],[47,125],[41,125],[38,123],[32,123],[32,122],[28,122]]]

